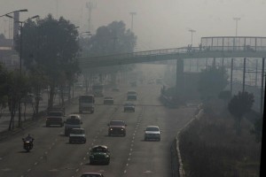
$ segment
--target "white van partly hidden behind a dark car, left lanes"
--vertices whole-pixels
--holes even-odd
[[[82,127],[82,118],[79,114],[70,114],[65,121],[65,135],[69,135],[73,128]]]

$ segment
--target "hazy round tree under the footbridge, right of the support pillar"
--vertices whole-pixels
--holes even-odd
[[[215,65],[202,70],[198,90],[204,101],[217,97],[228,83],[228,75],[224,67]]]

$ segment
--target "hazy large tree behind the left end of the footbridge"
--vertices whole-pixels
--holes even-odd
[[[104,56],[117,53],[133,52],[136,46],[137,36],[134,35],[123,21],[113,21],[108,26],[98,27],[97,33],[89,39],[82,38],[82,56]],[[98,68],[101,75],[110,74],[113,84],[116,81],[116,73],[132,70],[133,65],[115,65]],[[85,70],[85,69],[84,69]],[[89,73],[84,71],[84,73]],[[92,71],[95,73],[95,71]]]

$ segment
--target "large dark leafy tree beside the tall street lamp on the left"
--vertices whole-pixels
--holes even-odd
[[[78,63],[74,59],[79,50],[76,27],[63,17],[53,19],[49,14],[36,22],[28,20],[22,37],[24,64],[29,72],[33,72],[32,68],[35,67],[47,78],[51,88],[48,106],[51,107],[55,89],[65,87],[72,75],[78,72]],[[17,46],[20,50],[20,40]]]

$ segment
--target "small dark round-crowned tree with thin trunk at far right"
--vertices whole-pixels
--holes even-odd
[[[231,98],[228,110],[235,119],[236,133],[241,135],[241,120],[246,112],[249,112],[254,104],[254,95],[246,91],[240,92]]]

